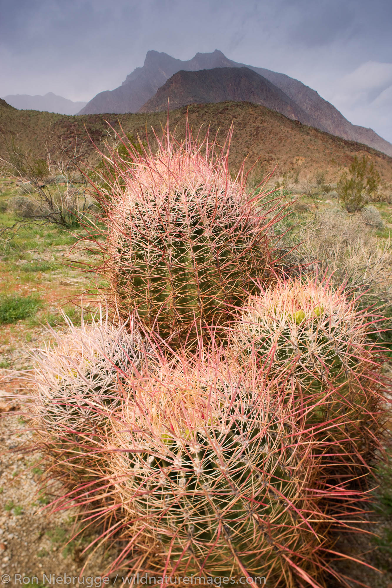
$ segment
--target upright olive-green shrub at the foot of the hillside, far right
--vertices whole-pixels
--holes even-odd
[[[347,172],[343,172],[337,183],[337,193],[347,212],[356,212],[374,198],[380,183],[380,174],[366,156],[354,158]]]

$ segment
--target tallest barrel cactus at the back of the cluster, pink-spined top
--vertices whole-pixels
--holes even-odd
[[[208,135],[194,141],[189,129],[182,143],[165,134],[155,154],[129,145],[127,158],[112,155],[111,191],[99,198],[107,212],[104,270],[120,312],[137,308],[172,345],[195,322],[225,322],[254,279],[270,273],[276,203],[260,212],[243,169],[232,179],[228,153],[217,153]]]

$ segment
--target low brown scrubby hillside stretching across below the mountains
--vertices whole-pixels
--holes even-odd
[[[185,135],[186,114],[187,108],[170,112],[170,127],[177,128],[179,138]],[[284,171],[310,173],[322,169],[327,172],[328,177],[337,178],[341,168],[350,165],[355,155],[367,155],[374,161],[382,178],[392,182],[392,158],[384,153],[301,125],[265,106],[247,102],[191,105],[188,118],[194,131],[202,124],[207,131],[208,125],[211,125],[211,136],[219,131],[220,141],[224,140],[231,122],[234,123],[229,159],[232,171],[236,171],[248,155],[249,166],[260,159],[260,171],[271,172],[278,164]],[[52,156],[56,156],[56,151],[60,148],[63,151],[68,148],[71,153],[77,139],[81,146],[81,156],[87,161],[96,155],[93,141],[104,148],[108,131],[111,131],[106,121],[118,132],[121,125],[124,132],[138,134],[141,138],[145,137],[147,128],[150,141],[154,143],[151,126],[159,135],[167,121],[167,113],[62,116],[47,112],[18,111],[2,101],[0,155],[7,158],[11,139],[23,151],[31,150],[34,157],[45,156],[46,144]]]

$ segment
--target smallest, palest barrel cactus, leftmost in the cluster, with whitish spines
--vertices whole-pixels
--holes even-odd
[[[141,335],[108,315],[65,332],[51,332],[51,342],[33,352],[35,416],[49,435],[91,433],[119,404],[122,383],[144,358]]]

